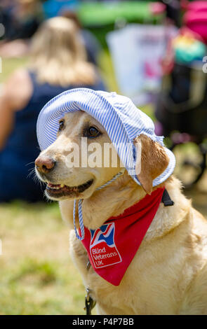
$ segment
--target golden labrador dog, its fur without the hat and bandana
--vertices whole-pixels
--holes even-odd
[[[47,183],[47,197],[59,201],[62,218],[71,229],[72,259],[84,285],[90,288],[98,314],[207,314],[207,222],[182,194],[180,181],[174,176],[161,184],[174,205],[159,205],[119,286],[105,281],[87,266],[86,249],[74,234],[74,199],[83,199],[85,227],[100,228],[108,218],[119,216],[161,187],[152,188],[152,181],[166,169],[168,156],[162,146],[142,134],[135,139],[135,144],[142,144],[138,174],[142,186],[125,172],[96,190],[120,172],[121,165],[69,168],[69,144],[74,142],[81,148],[82,136],[89,137],[88,145],[94,141],[100,145],[110,143],[104,127],[87,113],[67,113],[60,120],[55,142],[36,159],[36,172]]]

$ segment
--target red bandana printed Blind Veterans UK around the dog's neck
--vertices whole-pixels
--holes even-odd
[[[119,286],[126,269],[145,237],[161,202],[164,188],[157,188],[121,216],[111,217],[97,230],[85,228],[82,240],[93,269]]]

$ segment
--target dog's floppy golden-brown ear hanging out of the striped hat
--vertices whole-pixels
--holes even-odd
[[[138,155],[135,172],[142,188],[151,194],[152,182],[168,167],[169,158],[163,147],[145,134],[135,138],[134,143]]]

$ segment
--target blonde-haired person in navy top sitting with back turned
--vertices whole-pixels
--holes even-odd
[[[42,200],[29,170],[39,155],[36,120],[42,107],[74,87],[105,90],[67,18],[45,21],[32,38],[28,69],[9,78],[0,97],[0,202]]]

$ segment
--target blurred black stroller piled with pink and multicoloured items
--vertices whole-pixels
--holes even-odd
[[[163,76],[155,116],[176,154],[185,187],[201,179],[207,154],[207,3],[189,3],[173,41],[173,69]]]

